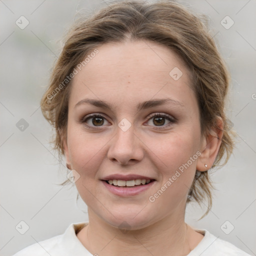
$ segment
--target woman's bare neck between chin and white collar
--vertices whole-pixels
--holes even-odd
[[[88,209],[89,224],[78,234],[78,239],[93,255],[187,255],[192,230],[183,218],[166,216],[139,230],[120,230]]]

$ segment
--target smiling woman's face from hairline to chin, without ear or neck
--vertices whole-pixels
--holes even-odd
[[[117,227],[183,218],[202,149],[189,70],[150,41],[97,49],[74,76],[68,102],[65,156],[81,198]]]

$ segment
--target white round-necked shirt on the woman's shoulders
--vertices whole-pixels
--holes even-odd
[[[88,222],[72,223],[63,234],[29,245],[13,256],[92,256],[77,238],[76,233]],[[187,256],[250,256],[232,243],[217,238],[206,229],[196,230],[204,235]]]

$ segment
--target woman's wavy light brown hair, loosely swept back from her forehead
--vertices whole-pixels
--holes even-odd
[[[222,142],[212,167],[220,166],[221,159],[226,163],[233,148],[229,122],[224,114],[229,83],[227,70],[203,22],[185,7],[168,0],[114,2],[94,15],[79,19],[70,29],[41,99],[42,113],[56,130],[55,149],[63,154],[72,81],[69,76],[75,66],[100,45],[122,42],[127,36],[129,40],[150,40],[165,45],[183,59],[193,77],[202,134],[216,127],[217,116],[224,122]],[[187,202],[195,200],[200,204],[207,199],[208,209],[204,215],[211,207],[211,188],[208,171],[196,170]]]

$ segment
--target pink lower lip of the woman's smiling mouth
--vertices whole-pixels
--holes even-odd
[[[154,180],[144,185],[127,187],[127,186],[114,186],[114,185],[108,184],[104,180],[101,180],[101,181],[111,193],[119,196],[130,196],[130,195],[139,194],[145,191],[146,189],[148,189],[149,187],[151,187],[155,183],[155,180]]]

